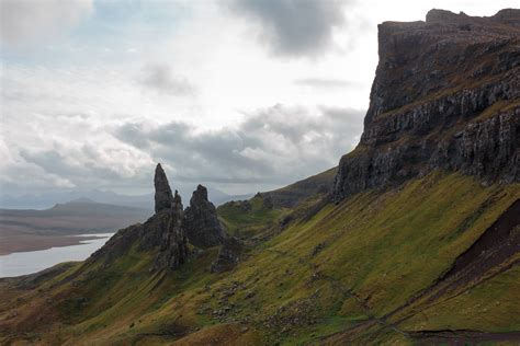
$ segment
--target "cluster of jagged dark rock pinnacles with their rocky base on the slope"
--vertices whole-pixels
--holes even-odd
[[[188,243],[197,247],[223,244],[225,233],[215,206],[207,199],[206,187],[199,185],[190,206],[183,210],[181,196],[177,191],[171,193],[160,164],[156,166],[154,183],[156,214],[144,223],[120,230],[88,263],[110,264],[135,245],[139,251],[156,253],[151,270],[174,269],[186,261]]]

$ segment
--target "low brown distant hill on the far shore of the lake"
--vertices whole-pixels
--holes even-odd
[[[142,222],[151,209],[94,203],[87,198],[57,204],[45,210],[0,209],[0,235],[115,232]]]

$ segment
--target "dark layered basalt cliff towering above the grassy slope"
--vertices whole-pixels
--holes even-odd
[[[437,169],[520,181],[520,10],[490,18],[432,10],[378,26],[380,64],[359,146],[334,198]]]

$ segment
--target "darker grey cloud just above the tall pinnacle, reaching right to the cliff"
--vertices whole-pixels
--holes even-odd
[[[317,113],[316,113],[317,112]],[[173,168],[172,180],[286,184],[337,164],[359,140],[363,112],[275,105],[238,128],[196,132],[183,123],[125,124],[115,136]]]

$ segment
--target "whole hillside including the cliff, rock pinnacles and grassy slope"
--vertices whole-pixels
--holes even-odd
[[[0,343],[520,342],[520,11],[380,25],[360,145],[218,209],[156,209],[82,263],[0,279]]]

